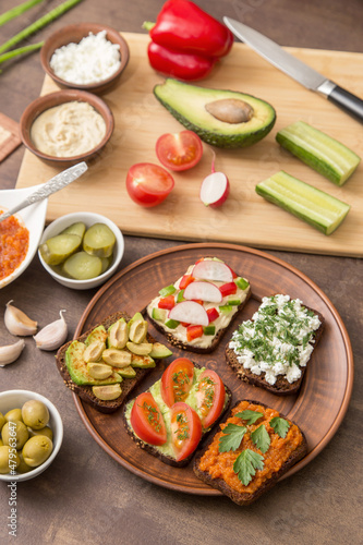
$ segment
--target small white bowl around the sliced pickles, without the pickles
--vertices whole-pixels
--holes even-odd
[[[97,288],[97,286],[106,282],[106,280],[111,278],[111,276],[116,272],[124,252],[123,235],[118,226],[106,216],[94,214],[92,211],[75,211],[73,214],[68,214],[66,216],[61,216],[60,218],[52,221],[45,229],[40,239],[40,244],[46,242],[46,240],[50,239],[51,237],[56,237],[56,234],[59,234],[61,231],[63,231],[63,229],[71,226],[72,223],[75,223],[76,221],[83,221],[87,228],[93,226],[94,223],[106,223],[113,232],[116,237],[113,262],[110,267],[105,270],[105,272],[95,278],[90,278],[89,280],[74,280],[73,278],[66,278],[64,276],[58,275],[58,272],[55,272],[55,270],[44,261],[39,251],[38,256],[44,268],[49,272],[50,276],[53,277],[55,280],[57,280],[57,282],[74,290],[89,290],[92,288]]]

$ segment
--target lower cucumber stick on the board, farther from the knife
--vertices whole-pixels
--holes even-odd
[[[258,183],[256,193],[324,234],[332,233],[350,209],[347,203],[293,178],[283,170]]]

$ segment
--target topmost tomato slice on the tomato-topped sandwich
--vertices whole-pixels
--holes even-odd
[[[187,358],[177,358],[161,376],[161,397],[168,407],[184,401],[192,388],[194,365]]]

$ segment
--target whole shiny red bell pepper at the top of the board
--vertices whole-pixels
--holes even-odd
[[[156,24],[144,23],[150,34],[152,66],[179,80],[201,80],[230,51],[233,35],[219,21],[190,0],[168,0]]]

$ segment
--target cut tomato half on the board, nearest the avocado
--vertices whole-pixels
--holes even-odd
[[[187,170],[202,159],[202,141],[193,131],[162,134],[156,143],[156,155],[170,170]]]

